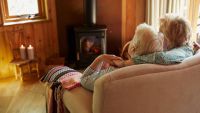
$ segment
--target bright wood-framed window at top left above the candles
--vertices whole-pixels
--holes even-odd
[[[4,25],[47,20],[46,0],[1,0]]]

